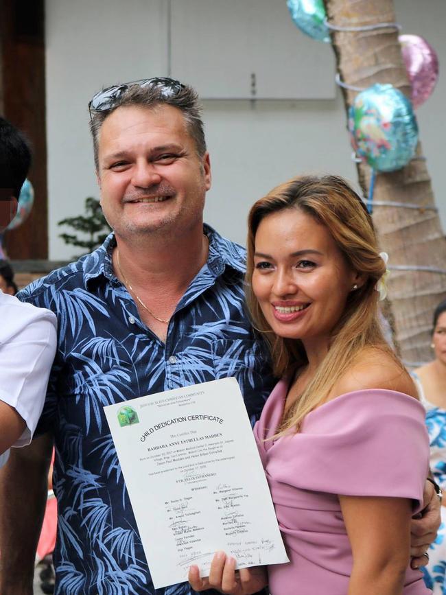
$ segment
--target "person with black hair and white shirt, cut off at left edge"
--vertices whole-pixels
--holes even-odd
[[[21,132],[0,117],[0,233],[16,213],[31,152]],[[56,316],[10,294],[10,266],[0,268],[0,467],[9,447],[30,443],[56,351]],[[5,279],[3,282],[3,275]]]

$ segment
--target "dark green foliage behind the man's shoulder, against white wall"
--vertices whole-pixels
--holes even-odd
[[[73,233],[60,233],[59,237],[62,237],[65,244],[86,248],[85,254],[100,246],[111,231],[104,213],[102,213],[99,200],[93,196],[88,196],[85,199],[84,215],[67,217],[59,221],[58,225],[68,225],[81,233],[80,237]]]

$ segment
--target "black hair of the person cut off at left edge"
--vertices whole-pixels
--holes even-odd
[[[0,117],[0,188],[12,189],[19,200],[31,165],[31,148],[25,135]]]

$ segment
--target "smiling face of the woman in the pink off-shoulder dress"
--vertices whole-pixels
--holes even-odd
[[[267,215],[255,235],[253,292],[283,338],[328,345],[359,275],[327,227],[298,209]]]

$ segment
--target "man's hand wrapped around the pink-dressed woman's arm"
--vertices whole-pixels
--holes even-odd
[[[412,517],[410,525],[412,568],[420,568],[429,561],[424,554],[436,538],[436,532],[441,523],[440,506],[434,486],[430,481],[426,481],[423,491],[423,510]]]

